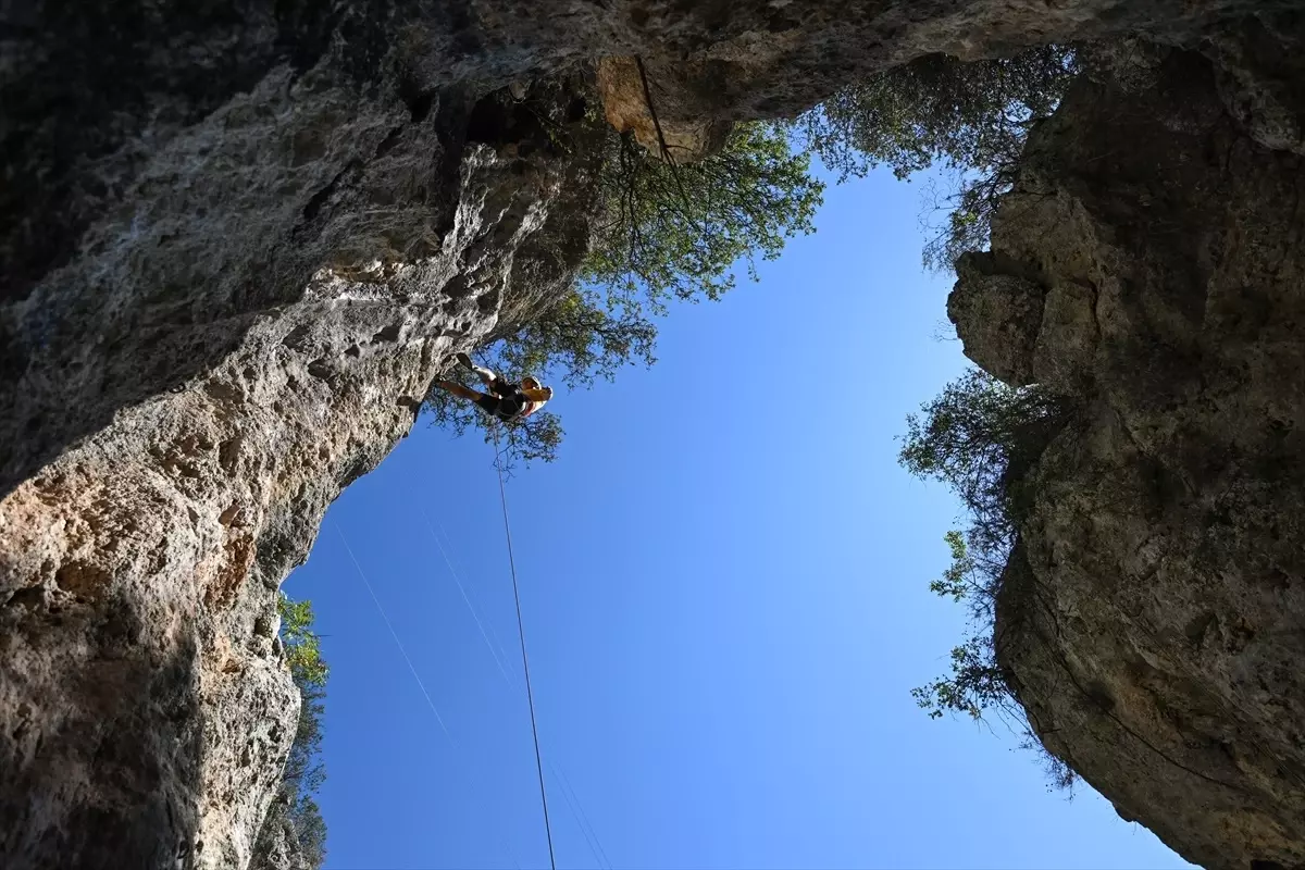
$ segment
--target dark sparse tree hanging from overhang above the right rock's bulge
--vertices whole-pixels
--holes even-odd
[[[987,247],[1028,129],[1052,113],[1078,72],[1065,46],[972,63],[928,55],[844,87],[791,129],[840,179],[881,164],[899,179],[934,163],[957,171],[944,196],[950,214],[924,250],[928,267],[950,269],[966,250]]]

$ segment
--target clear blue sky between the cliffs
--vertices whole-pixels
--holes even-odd
[[[962,634],[928,591],[958,506],[895,462],[964,365],[919,192],[831,185],[656,367],[559,390],[561,458],[509,480],[559,866],[1188,866],[910,697]],[[330,869],[547,866],[492,459],[419,424],[286,584],[329,635]]]

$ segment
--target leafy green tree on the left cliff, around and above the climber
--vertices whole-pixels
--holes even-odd
[[[485,348],[488,368],[578,389],[611,381],[629,364],[651,365],[655,318],[669,303],[719,299],[735,286],[740,263],[756,279],[758,260],[774,260],[790,237],[813,231],[823,193],[808,155],[793,153],[784,132],[763,123],[737,125],[718,154],[684,166],[609,130],[598,185],[591,248],[576,287]],[[485,424],[475,407],[440,390],[425,408],[455,434]],[[545,411],[497,428],[506,462],[551,462],[562,434]]]

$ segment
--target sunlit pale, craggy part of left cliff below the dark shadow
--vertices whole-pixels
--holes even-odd
[[[549,154],[538,125],[543,145],[512,140],[493,106],[458,129],[508,136],[499,151],[405,110],[376,146],[388,159],[356,179],[380,200],[348,211],[359,244],[427,256],[338,256],[294,304],[251,316],[221,364],[119,410],[0,503],[5,867],[249,860],[298,712],[277,587],[328,503],[407,432],[445,355],[506,299],[560,292],[585,249],[583,162]],[[386,190],[419,184],[442,187],[369,235]],[[193,317],[221,287],[174,287],[168,310]]]

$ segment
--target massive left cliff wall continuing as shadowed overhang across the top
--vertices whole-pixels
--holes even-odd
[[[519,111],[492,91],[641,56],[660,117],[692,127],[792,112],[925,52],[1146,30],[1228,59],[1228,111],[1267,147],[1300,140],[1284,82],[1300,81],[1291,59],[1301,55],[1220,42],[1229,17],[1291,3],[10,5],[0,34],[7,869],[249,862],[295,713],[277,586],[326,505],[406,433],[444,356],[557,297],[583,253],[585,106],[561,78]],[[545,134],[540,116],[570,132]],[[1257,147],[1246,138],[1228,154]],[[1263,184],[1278,194],[1274,179]],[[1282,207],[1272,202],[1254,200]],[[1284,239],[1275,232],[1229,237],[1212,261],[1181,267],[1198,274],[1241,245],[1278,269],[1265,248]],[[1283,274],[1292,256],[1285,247]],[[1258,322],[1276,299],[1251,293],[1240,313],[1216,314]],[[1066,316],[1082,313],[1071,303]],[[1280,359],[1246,355],[1248,365]],[[1284,438],[1300,432],[1291,411],[1275,417]],[[1241,631],[1211,625],[1210,637]],[[1267,625],[1254,637],[1270,637]],[[1283,710],[1285,721],[1296,708]]]

